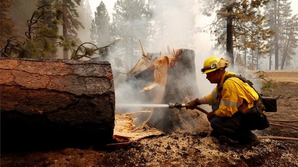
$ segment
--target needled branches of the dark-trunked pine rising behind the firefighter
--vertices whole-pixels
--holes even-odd
[[[265,28],[266,17],[262,15],[261,8],[268,3],[268,0],[212,0],[208,4],[203,1],[202,13],[211,16],[216,13],[216,19],[209,26],[211,33],[216,37],[218,50],[225,50],[227,44],[227,7],[232,7],[232,36],[234,53],[243,54],[243,50],[250,48],[257,51],[253,61],[258,61],[260,55],[269,52],[268,41],[273,31]],[[243,57],[243,56],[242,56]],[[236,57],[232,57],[235,60]],[[246,61],[246,60],[245,60]],[[255,62],[251,65],[257,66]],[[250,67],[253,68],[253,67]]]

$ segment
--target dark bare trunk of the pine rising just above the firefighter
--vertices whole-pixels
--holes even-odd
[[[233,3],[227,6],[227,56],[230,58],[231,66],[234,66],[233,55]]]

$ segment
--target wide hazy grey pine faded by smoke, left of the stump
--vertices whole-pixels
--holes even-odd
[[[118,52],[124,55],[125,70],[129,71],[140,54],[139,39],[145,43],[149,36],[149,11],[144,0],[118,0],[114,5],[113,31],[118,42]]]

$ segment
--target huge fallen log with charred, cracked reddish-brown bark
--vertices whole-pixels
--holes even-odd
[[[107,143],[114,106],[107,61],[1,58],[1,146]]]

